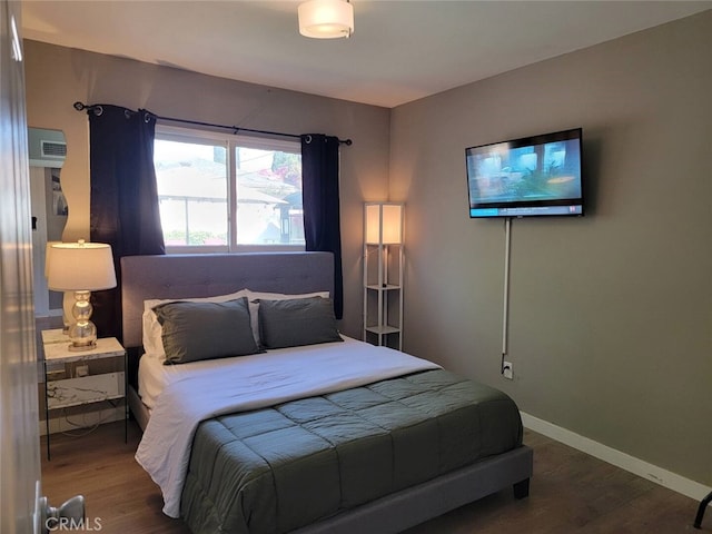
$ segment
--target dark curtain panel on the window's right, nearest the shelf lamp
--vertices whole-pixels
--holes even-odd
[[[337,137],[307,134],[301,138],[301,196],[306,249],[334,253],[334,314],[344,316],[342,230],[338,196]]]

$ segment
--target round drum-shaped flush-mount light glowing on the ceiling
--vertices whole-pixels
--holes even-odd
[[[354,7],[347,0],[309,0],[298,8],[299,33],[315,39],[350,37]]]

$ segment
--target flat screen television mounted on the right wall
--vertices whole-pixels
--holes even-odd
[[[467,148],[469,217],[582,216],[581,134]]]

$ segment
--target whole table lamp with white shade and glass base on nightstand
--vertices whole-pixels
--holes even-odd
[[[111,246],[101,243],[58,243],[48,254],[47,285],[55,291],[73,291],[73,322],[69,327],[70,350],[96,346],[97,327],[91,323],[91,291],[116,287]]]

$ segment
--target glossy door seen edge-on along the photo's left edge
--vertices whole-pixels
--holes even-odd
[[[0,532],[40,532],[41,467],[21,4],[0,0]]]

